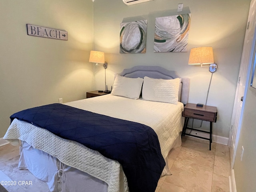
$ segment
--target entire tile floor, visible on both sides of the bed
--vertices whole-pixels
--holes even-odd
[[[48,192],[48,186],[27,170],[18,170],[19,148],[0,147],[0,180],[26,178],[32,186],[6,187],[9,192]],[[185,136],[182,146],[168,155],[172,175],[160,178],[156,192],[228,192],[230,157],[228,146]],[[11,165],[11,166],[10,166]],[[40,186],[40,187],[39,187]]]

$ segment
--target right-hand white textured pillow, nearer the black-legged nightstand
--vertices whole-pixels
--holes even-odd
[[[180,81],[180,78],[166,80],[144,77],[142,99],[178,104]]]

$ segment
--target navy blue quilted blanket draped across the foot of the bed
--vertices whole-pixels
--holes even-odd
[[[45,128],[117,160],[130,192],[154,192],[165,166],[158,137],[146,125],[96,114],[64,104],[30,108],[10,116]]]

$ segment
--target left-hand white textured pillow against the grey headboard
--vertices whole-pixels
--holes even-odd
[[[140,97],[142,83],[142,78],[128,78],[116,75],[111,94],[138,99]]]

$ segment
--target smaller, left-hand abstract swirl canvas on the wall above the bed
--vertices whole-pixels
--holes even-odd
[[[146,53],[147,20],[120,24],[120,53]]]

